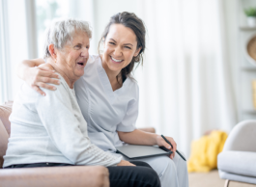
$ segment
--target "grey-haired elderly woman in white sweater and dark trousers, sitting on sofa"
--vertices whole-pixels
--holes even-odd
[[[102,165],[111,186],[160,186],[155,171],[143,162],[133,164],[91,144],[73,85],[84,74],[91,31],[85,21],[61,20],[47,31],[45,64],[59,75],[55,92],[37,94],[23,84],[10,117],[12,133],[4,168]],[[118,167],[113,167],[118,166]],[[145,167],[146,166],[146,167]]]

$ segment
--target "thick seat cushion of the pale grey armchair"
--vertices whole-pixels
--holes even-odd
[[[217,156],[217,167],[226,173],[256,177],[256,152],[223,151]]]

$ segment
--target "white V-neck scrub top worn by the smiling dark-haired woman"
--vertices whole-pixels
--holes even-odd
[[[100,56],[90,56],[84,75],[75,82],[75,94],[88,135],[93,144],[114,152],[122,146],[117,131],[135,129],[138,116],[138,86],[127,78],[122,88],[113,92]]]

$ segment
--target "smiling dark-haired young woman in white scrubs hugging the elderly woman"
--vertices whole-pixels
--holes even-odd
[[[100,44],[103,53],[90,56],[84,75],[74,85],[76,98],[84,119],[88,123],[91,141],[101,149],[115,153],[115,147],[123,142],[133,145],[157,145],[174,153],[139,159],[150,164],[158,174],[163,187],[188,186],[185,161],[175,154],[176,143],[166,137],[171,148],[161,136],[135,128],[138,117],[139,89],[130,73],[136,64],[142,63],[146,30],[134,13],[117,13],[110,18]],[[47,83],[58,84],[53,72],[38,67],[43,59],[22,62],[18,76],[37,92],[40,87],[55,90]],[[126,158],[124,158],[126,159]]]

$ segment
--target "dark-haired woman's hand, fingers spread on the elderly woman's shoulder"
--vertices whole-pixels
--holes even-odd
[[[27,73],[24,76],[25,81],[39,94],[45,95],[40,87],[55,91],[56,87],[48,85],[47,83],[59,85],[60,77],[55,73],[53,68],[48,64],[42,64],[39,67],[27,68]]]

